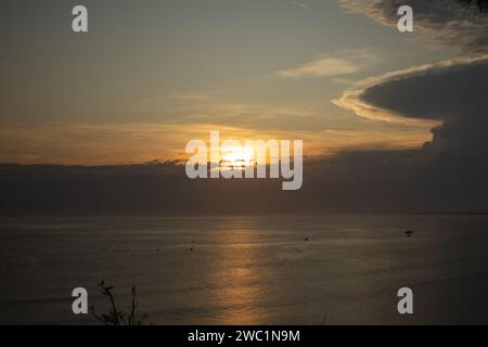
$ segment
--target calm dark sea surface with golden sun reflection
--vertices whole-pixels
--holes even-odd
[[[0,278],[0,323],[94,323],[102,279],[155,324],[488,323],[488,217],[3,218]]]

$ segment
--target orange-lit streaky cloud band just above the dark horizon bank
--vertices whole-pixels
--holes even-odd
[[[207,141],[211,130],[222,139],[304,140],[307,156],[357,149],[412,149],[431,140],[427,131],[262,130],[222,124],[39,125],[0,129],[0,163],[114,165],[154,159],[185,159],[188,141]]]

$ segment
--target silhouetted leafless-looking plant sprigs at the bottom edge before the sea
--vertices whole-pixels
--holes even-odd
[[[130,291],[131,293],[131,303],[130,303],[130,310],[129,312],[124,312],[119,307],[117,307],[117,304],[115,301],[114,295],[112,294],[112,291],[114,286],[106,285],[105,282],[102,280],[99,283],[100,292],[102,295],[108,300],[110,303],[110,309],[107,313],[97,313],[94,306],[91,306],[91,313],[93,317],[100,321],[101,323],[105,325],[142,325],[144,324],[144,321],[147,319],[147,314],[142,314],[141,318],[137,317],[137,287],[136,285],[132,285],[132,288]]]

